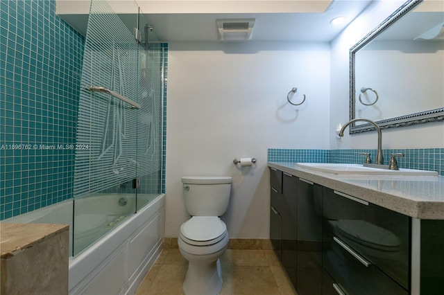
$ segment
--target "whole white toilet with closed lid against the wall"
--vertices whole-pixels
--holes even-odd
[[[187,295],[219,294],[219,258],[228,246],[228,231],[219,218],[230,200],[231,177],[182,177],[185,206],[191,218],[180,226],[179,251],[188,260],[183,283]]]

